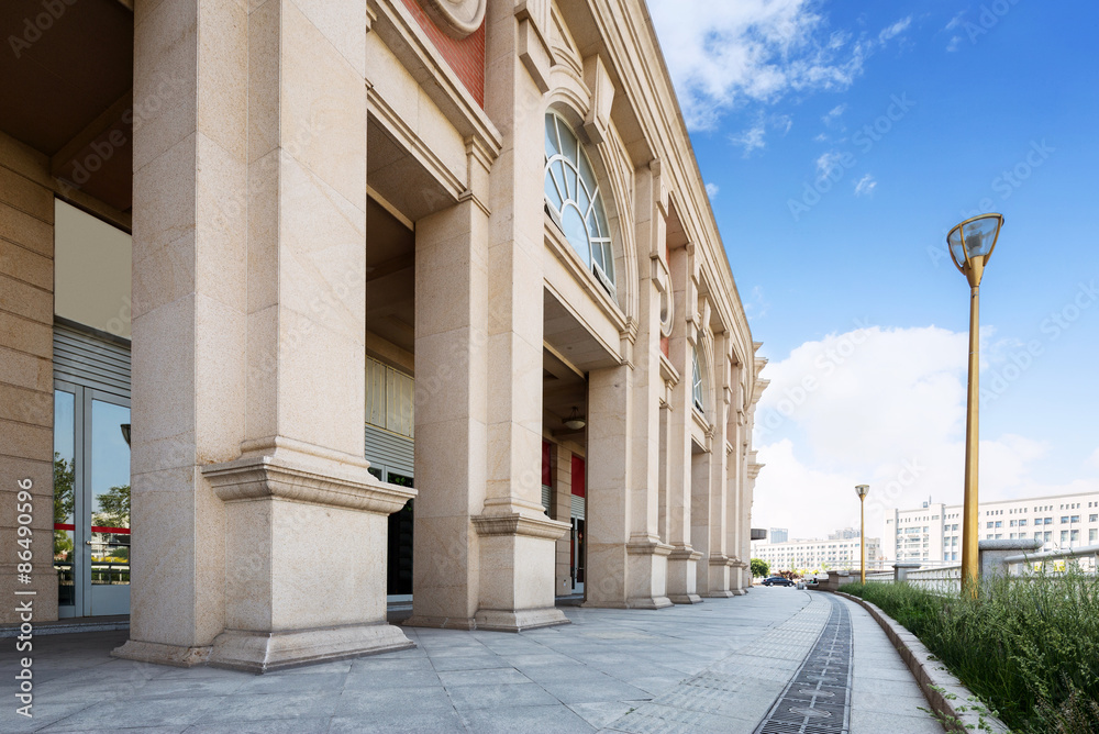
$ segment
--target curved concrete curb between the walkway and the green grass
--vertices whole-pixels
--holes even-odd
[[[1011,734],[1011,730],[996,716],[990,714],[981,716],[974,711],[975,707],[981,705],[975,703],[977,697],[963,686],[962,681],[955,678],[942,663],[932,659],[926,646],[915,635],[893,621],[877,605],[843,591],[834,591],[833,593],[850,599],[856,604],[862,604],[870,613],[870,616],[877,620],[881,629],[885,630],[886,636],[889,637],[889,642],[900,653],[901,659],[904,660],[904,665],[908,666],[915,681],[920,683],[924,698],[928,699],[935,713],[946,721],[959,722],[953,726],[944,723],[944,726],[951,731],[966,734],[981,731],[993,734]],[[966,711],[959,713],[956,707],[964,707]],[[981,721],[984,721],[984,727],[981,727]]]

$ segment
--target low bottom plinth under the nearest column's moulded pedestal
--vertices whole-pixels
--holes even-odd
[[[288,632],[226,630],[213,641],[210,665],[262,674],[414,646],[391,624],[349,624]]]

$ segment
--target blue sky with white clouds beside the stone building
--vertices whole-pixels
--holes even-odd
[[[981,498],[1099,491],[1099,3],[650,5],[771,363],[753,524],[852,524],[862,481],[872,529],[961,501],[968,292],[942,247],[980,211],[1006,220]]]

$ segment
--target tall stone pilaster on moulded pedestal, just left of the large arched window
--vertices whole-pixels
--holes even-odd
[[[485,22],[486,111],[503,146],[488,202],[488,457],[484,511],[474,518],[481,570],[476,622],[520,630],[567,622],[554,607],[554,542],[568,524],[546,518],[540,482],[548,53],[532,52],[548,37],[548,4],[489,3]]]

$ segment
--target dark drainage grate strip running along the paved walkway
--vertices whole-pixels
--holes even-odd
[[[832,613],[796,676],[755,734],[847,734],[851,713],[851,615],[832,594]]]

